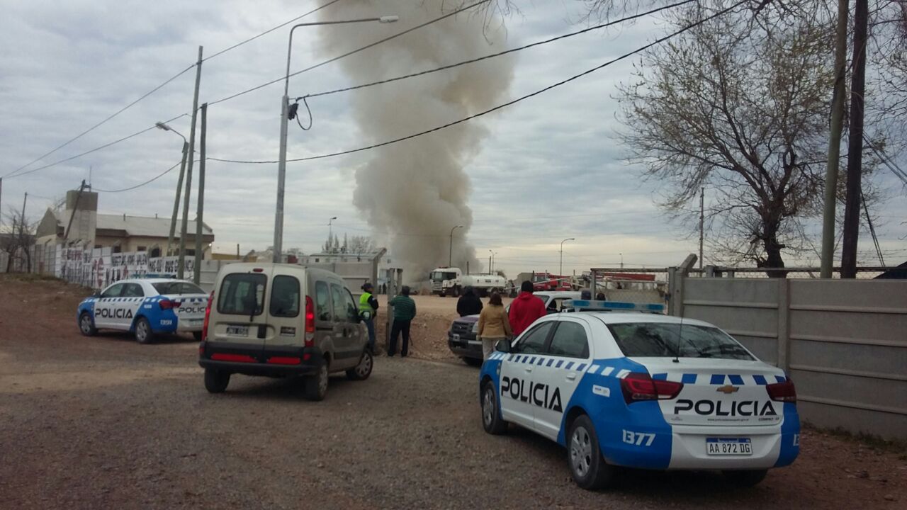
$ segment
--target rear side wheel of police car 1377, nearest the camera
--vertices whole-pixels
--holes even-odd
[[[614,467],[601,456],[599,437],[586,415],[573,420],[567,435],[567,463],[576,485],[588,490],[610,485]]]

